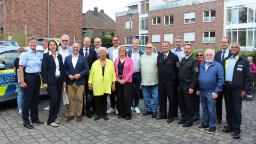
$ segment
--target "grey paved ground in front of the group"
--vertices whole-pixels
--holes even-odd
[[[33,124],[34,129],[28,130],[23,127],[16,103],[9,102],[0,106],[0,143],[256,143],[255,101],[243,101],[239,140],[234,140],[232,133],[222,132],[225,121],[218,125],[217,133],[207,134],[206,131],[196,129],[199,122],[184,128],[177,124],[178,119],[168,124],[166,119],[156,120],[135,112],[130,121],[109,114],[109,121],[83,117],[81,123],[75,120],[67,123],[66,116],[62,114],[60,126],[51,127],[46,124],[48,111],[43,110],[49,100],[40,100],[38,104],[39,118],[45,123]],[[139,107],[142,112],[145,110],[142,99]]]

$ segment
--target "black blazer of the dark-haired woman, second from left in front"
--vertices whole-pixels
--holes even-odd
[[[58,53],[57,56],[59,60],[60,66],[60,79],[61,83],[66,82],[66,75],[64,72],[63,61],[61,54]],[[52,55],[49,55],[49,52],[44,53],[42,66],[41,66],[41,74],[43,78],[43,84],[54,84],[55,83],[55,72],[56,72],[56,65]]]

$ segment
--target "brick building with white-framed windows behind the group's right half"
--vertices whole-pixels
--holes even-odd
[[[222,0],[138,0],[129,5],[129,11],[116,13],[116,34],[121,44],[129,39],[129,15],[132,15],[132,38],[140,36],[142,44],[153,43],[162,51],[161,43],[169,41],[174,46],[174,37],[182,36],[185,43],[196,48],[220,47],[223,37]]]

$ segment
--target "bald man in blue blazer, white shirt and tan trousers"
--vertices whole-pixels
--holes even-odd
[[[84,76],[89,74],[89,66],[87,59],[79,54],[80,46],[74,43],[72,46],[72,54],[65,58],[64,68],[67,79],[67,91],[69,98],[68,118],[66,122],[74,119],[74,100],[77,100],[77,122],[82,121],[83,93],[85,79]]]

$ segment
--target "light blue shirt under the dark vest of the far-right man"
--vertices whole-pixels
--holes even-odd
[[[234,68],[235,68],[236,61],[238,60],[238,58],[239,58],[239,54],[235,58],[230,57],[228,59],[227,71],[226,71],[226,81],[228,81],[228,82],[232,82]]]

